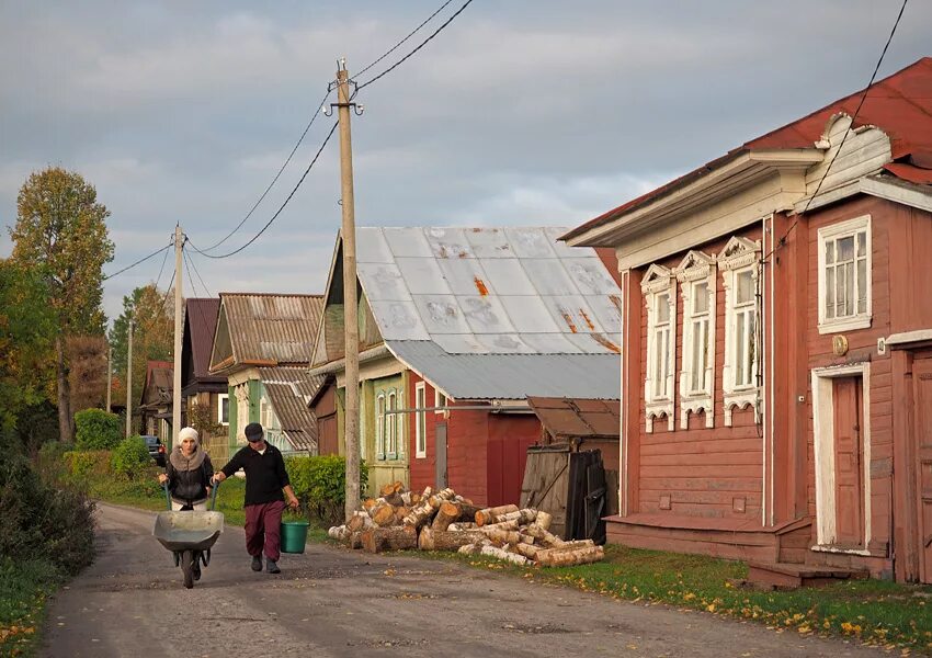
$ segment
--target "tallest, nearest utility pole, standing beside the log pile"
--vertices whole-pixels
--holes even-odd
[[[353,206],[353,147],[350,139],[350,73],[337,66],[340,120],[340,186],[343,208],[343,322],[346,339],[346,502],[349,519],[360,506],[360,327],[356,320],[356,225]]]

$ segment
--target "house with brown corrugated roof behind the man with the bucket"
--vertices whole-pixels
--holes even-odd
[[[220,293],[209,374],[227,383],[229,453],[261,422],[283,452],[317,454],[307,367],[322,307],[320,295]]]

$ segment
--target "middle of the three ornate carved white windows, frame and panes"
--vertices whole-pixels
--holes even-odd
[[[690,413],[705,413],[705,427],[715,424],[715,261],[690,251],[675,270],[683,297],[683,363],[680,372],[680,427]]]

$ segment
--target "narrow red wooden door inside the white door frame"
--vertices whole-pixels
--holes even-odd
[[[864,545],[864,444],[861,377],[832,381],[836,543]]]

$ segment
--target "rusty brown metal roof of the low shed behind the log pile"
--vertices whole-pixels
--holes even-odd
[[[618,400],[528,397],[527,404],[555,439],[617,439],[621,434]]]

